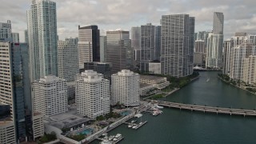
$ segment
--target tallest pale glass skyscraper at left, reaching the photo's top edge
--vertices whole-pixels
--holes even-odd
[[[56,3],[32,0],[27,10],[31,81],[58,76]]]

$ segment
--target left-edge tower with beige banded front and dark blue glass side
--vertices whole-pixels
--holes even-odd
[[[0,103],[10,105],[16,142],[26,137],[22,52],[19,43],[0,42]]]

